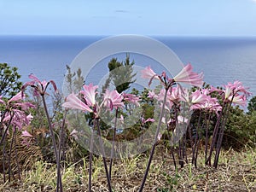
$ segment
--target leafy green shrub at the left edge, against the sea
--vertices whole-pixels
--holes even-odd
[[[20,91],[22,83],[17,67],[10,67],[7,63],[0,63],[0,96],[11,98]]]

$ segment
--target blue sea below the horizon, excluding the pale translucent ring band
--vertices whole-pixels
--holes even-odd
[[[0,62],[19,68],[21,80],[34,73],[39,79],[53,79],[61,86],[66,65],[72,63],[81,50],[102,37],[41,37],[0,36]],[[205,74],[209,84],[223,85],[240,80],[256,94],[256,38],[175,38],[156,37],[171,48],[184,64],[191,63],[196,72]],[[121,59],[124,55],[120,55]],[[154,67],[154,61],[131,55],[136,64]],[[100,68],[101,69],[101,68]],[[96,69],[101,76],[106,67]]]

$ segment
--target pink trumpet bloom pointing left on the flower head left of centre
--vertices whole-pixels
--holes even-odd
[[[64,108],[73,108],[73,109],[79,109],[84,112],[93,112],[91,108],[86,105],[84,102],[82,102],[75,94],[70,94],[66,98],[66,102],[62,104]]]

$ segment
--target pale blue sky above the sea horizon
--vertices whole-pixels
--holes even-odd
[[[256,36],[256,0],[0,0],[0,35]]]

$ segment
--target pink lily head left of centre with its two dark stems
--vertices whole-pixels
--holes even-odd
[[[93,84],[84,85],[84,90],[79,92],[79,96],[75,94],[70,94],[67,96],[66,102],[63,103],[63,107],[65,108],[73,108],[79,109],[86,113],[93,113],[94,119],[94,127],[96,128],[97,134],[99,136],[100,148],[102,149],[102,160],[106,172],[106,177],[108,180],[108,189],[112,191],[111,182],[110,182],[110,173],[108,172],[108,166],[106,161],[105,149],[102,143],[101,137],[101,129],[99,125],[100,114],[104,109],[112,111],[113,108],[117,110],[117,108],[123,107],[123,96],[119,94],[116,90],[106,90],[103,94],[103,98],[101,102],[96,101],[98,86],[94,86]],[[92,134],[93,135],[93,134]],[[90,138],[90,171],[89,171],[89,189],[91,190],[91,161],[92,161],[92,148],[93,148],[93,137]]]

